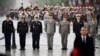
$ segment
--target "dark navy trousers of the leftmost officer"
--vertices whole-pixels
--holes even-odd
[[[10,50],[11,49],[11,33],[5,33],[4,37],[5,37],[5,48],[6,50]]]

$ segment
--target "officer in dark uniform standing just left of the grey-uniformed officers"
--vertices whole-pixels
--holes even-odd
[[[34,21],[31,23],[30,31],[32,32],[33,50],[39,50],[40,34],[42,33],[42,23],[39,21],[39,16],[34,16]]]

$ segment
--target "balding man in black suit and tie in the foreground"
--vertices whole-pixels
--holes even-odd
[[[82,27],[81,35],[75,39],[74,48],[79,50],[79,56],[94,56],[93,38],[88,36],[88,29]]]

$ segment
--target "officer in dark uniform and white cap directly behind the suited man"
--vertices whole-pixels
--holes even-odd
[[[80,29],[84,26],[83,22],[80,19],[81,14],[76,14],[76,20],[73,23],[73,32],[75,33],[76,37],[80,35]]]

